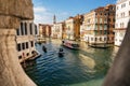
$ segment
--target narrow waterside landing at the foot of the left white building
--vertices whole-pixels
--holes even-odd
[[[29,57],[26,57],[26,58],[22,58],[22,59],[20,59],[20,62],[22,63],[22,62],[25,62],[25,61],[31,61],[31,60],[37,59],[40,56],[41,56],[41,54],[38,51],[37,52],[34,51],[32,56],[29,56]]]

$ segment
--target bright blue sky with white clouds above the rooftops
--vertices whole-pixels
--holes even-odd
[[[53,16],[56,23],[67,19],[69,16],[86,14],[99,6],[115,4],[117,0],[32,0],[36,24],[52,24]]]

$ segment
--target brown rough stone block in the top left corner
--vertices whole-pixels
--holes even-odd
[[[0,15],[32,19],[34,12],[31,0],[0,0]]]

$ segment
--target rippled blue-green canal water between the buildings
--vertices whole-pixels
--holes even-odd
[[[42,52],[46,45],[48,53]],[[61,41],[52,40],[46,44],[36,44],[41,57],[28,62],[24,68],[28,76],[38,86],[101,86],[118,48],[92,48],[80,43],[80,49],[74,51],[61,46]],[[65,55],[58,57],[58,48]]]

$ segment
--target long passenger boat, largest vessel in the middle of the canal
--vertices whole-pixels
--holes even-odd
[[[76,41],[63,40],[63,45],[72,49],[79,49],[79,44]]]

